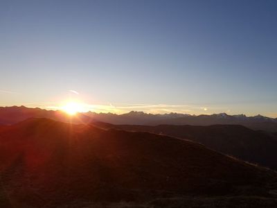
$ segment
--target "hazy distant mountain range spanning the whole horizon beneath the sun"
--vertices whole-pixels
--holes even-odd
[[[215,124],[231,124],[244,125],[253,130],[265,130],[268,132],[277,132],[277,119],[266,116],[245,116],[211,114],[211,115],[190,115],[190,114],[146,114],[144,112],[129,112],[127,114],[111,114],[87,112],[69,117],[64,112],[48,111],[39,108],[28,107],[0,107],[0,125],[13,124],[24,121],[28,118],[48,118],[57,121],[69,121],[73,123],[90,123],[91,121],[101,121],[116,125],[215,125]]]

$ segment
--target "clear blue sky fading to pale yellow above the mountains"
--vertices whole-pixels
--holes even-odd
[[[0,105],[277,117],[276,11],[274,0],[2,0]]]

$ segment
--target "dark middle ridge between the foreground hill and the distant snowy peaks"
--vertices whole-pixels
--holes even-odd
[[[118,129],[134,132],[151,132],[170,137],[190,139],[208,148],[233,155],[262,166],[277,169],[276,134],[245,128],[242,125],[112,125],[97,122],[94,125],[104,129]]]

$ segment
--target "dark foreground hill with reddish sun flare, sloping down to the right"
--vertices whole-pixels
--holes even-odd
[[[277,205],[273,171],[191,141],[50,119],[1,128],[0,171],[12,207]]]

